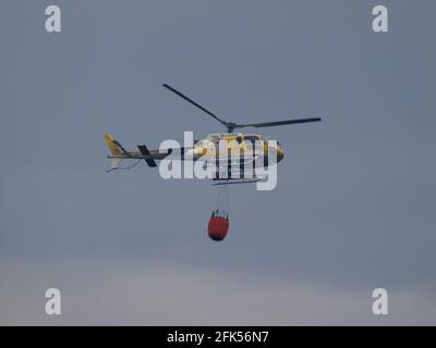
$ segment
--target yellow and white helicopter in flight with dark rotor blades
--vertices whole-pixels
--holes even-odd
[[[267,175],[265,173],[257,174],[256,169],[261,166],[268,167],[283,160],[284,151],[279,141],[264,139],[261,134],[238,133],[235,129],[265,128],[322,121],[320,117],[311,117],[249,124],[228,122],[170,85],[164,84],[162,87],[219,122],[226,132],[209,134],[205,139],[193,140],[193,144],[190,146],[149,150],[145,144],[140,144],[137,145],[137,150],[133,151],[124,149],[111,135],[106,134],[105,140],[110,151],[108,158],[111,160],[110,169],[107,172],[131,169],[143,160],[149,167],[157,167],[156,161],[171,159],[201,162],[204,169],[214,173],[211,178],[215,185],[266,181]],[[123,160],[136,160],[136,163],[128,167],[122,167],[121,162]],[[250,167],[251,171],[246,171],[246,167]],[[250,173],[250,175],[246,173]]]

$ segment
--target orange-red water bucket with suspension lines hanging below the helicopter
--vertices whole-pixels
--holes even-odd
[[[228,188],[227,186],[223,186],[219,189],[217,202],[214,212],[210,215],[209,224],[207,225],[207,234],[209,235],[209,238],[215,241],[225,239],[229,232],[230,221],[228,206]]]

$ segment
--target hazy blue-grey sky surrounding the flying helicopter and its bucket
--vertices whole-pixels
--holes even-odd
[[[1,1],[0,324],[436,324],[435,10]],[[323,117],[264,129],[278,187],[232,187],[223,243],[209,182],[105,173],[106,132],[133,148],[222,130],[162,83],[229,121]]]

